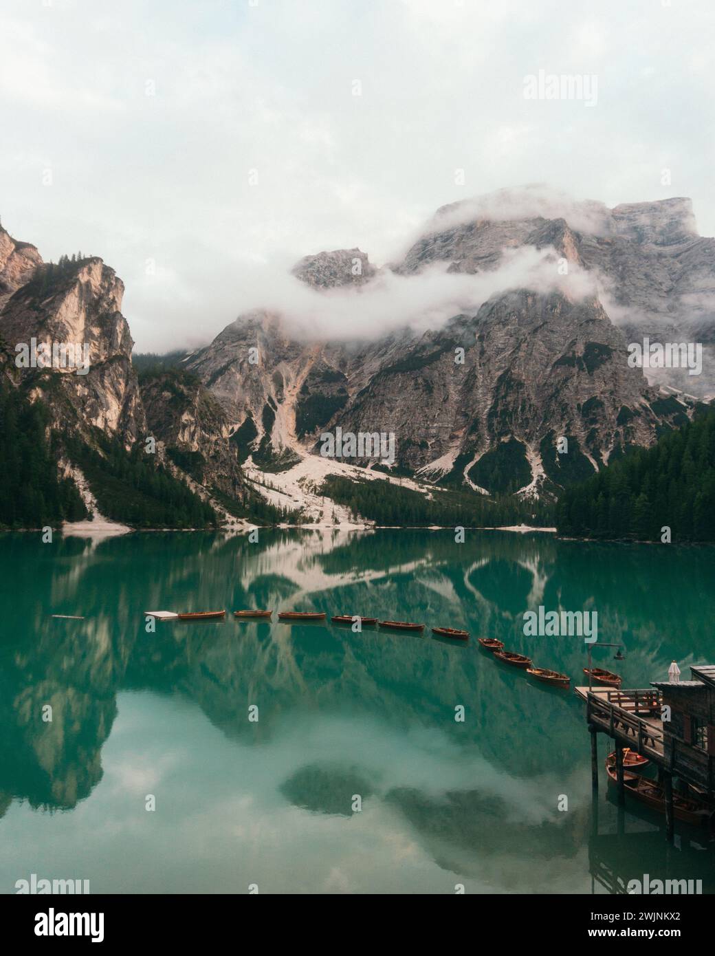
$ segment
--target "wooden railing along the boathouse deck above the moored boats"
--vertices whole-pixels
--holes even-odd
[[[589,691],[586,695],[586,719],[607,730],[621,743],[631,743],[634,750],[654,757],[663,755],[663,736],[653,719],[660,718],[661,692],[647,690]],[[650,717],[650,722],[641,715]]]

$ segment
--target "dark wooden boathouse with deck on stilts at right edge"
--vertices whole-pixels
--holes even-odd
[[[715,811],[715,664],[690,671],[689,681],[653,681],[648,688],[576,687],[576,694],[586,702],[594,787],[598,786],[599,733],[616,745],[620,800],[624,799],[623,750],[647,757],[658,768],[668,839],[673,837],[674,779],[679,793]]]

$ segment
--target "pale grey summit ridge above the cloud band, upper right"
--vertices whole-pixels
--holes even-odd
[[[500,210],[506,219],[499,221]],[[527,214],[525,214],[525,212]],[[450,272],[482,272],[502,250],[551,247],[597,276],[599,296],[627,341],[701,341],[711,355],[715,332],[715,240],[698,234],[692,203],[673,198],[609,209],[574,203],[542,187],[502,190],[443,206],[396,269],[418,272],[430,262]],[[715,391],[715,368],[704,374],[649,370],[652,380],[686,385],[703,397]]]

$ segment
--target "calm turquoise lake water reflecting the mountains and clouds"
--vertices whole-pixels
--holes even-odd
[[[605,893],[646,873],[713,892],[706,833],[677,823],[668,849],[661,816],[619,811],[603,771],[594,802],[583,706],[475,638],[581,684],[583,641],[527,638],[523,613],[596,610],[626,660],[603,648],[594,662],[624,686],[663,679],[673,658],[686,677],[715,662],[714,565],[712,548],[537,533],[2,535],[0,892],[32,873],[93,893]],[[224,607],[473,636],[275,614],[151,634],[142,615]]]

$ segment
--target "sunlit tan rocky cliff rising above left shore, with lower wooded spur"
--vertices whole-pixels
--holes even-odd
[[[97,514],[100,502],[104,514],[129,524],[202,525],[214,517],[206,502],[215,504],[204,483],[245,511],[246,483],[228,443],[226,413],[201,382],[164,377],[147,384],[158,434],[147,426],[134,342],[121,314],[123,292],[116,272],[98,257],[44,263],[33,246],[0,229],[0,371],[14,395],[12,408],[40,403],[45,409],[55,480],[74,482],[90,512]],[[160,442],[159,454],[146,450],[151,437]],[[19,495],[11,478],[3,473],[3,492]],[[44,472],[42,481],[52,485]],[[76,494],[51,491],[59,504],[43,511],[43,523],[68,516],[63,502],[74,501],[76,513]],[[39,522],[27,508],[17,514],[23,524]]]

